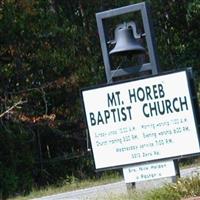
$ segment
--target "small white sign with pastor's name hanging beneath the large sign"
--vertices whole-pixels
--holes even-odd
[[[123,174],[125,183],[132,183],[176,176],[176,171],[174,162],[167,160],[124,167]]]

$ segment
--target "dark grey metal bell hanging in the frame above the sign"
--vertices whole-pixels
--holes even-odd
[[[109,52],[111,55],[141,54],[144,47],[135,39],[132,27],[126,25],[115,29],[115,47]]]

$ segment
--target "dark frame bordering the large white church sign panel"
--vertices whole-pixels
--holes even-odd
[[[150,79],[150,78],[154,78],[154,77],[162,77],[162,76],[165,76],[165,75],[169,75],[169,74],[173,74],[173,73],[175,74],[175,73],[179,73],[179,72],[185,72],[186,73],[187,86],[188,86],[189,97],[190,97],[190,102],[191,102],[191,112],[192,112],[193,118],[194,118],[195,129],[196,129],[198,144],[199,144],[199,151],[196,152],[196,153],[191,153],[191,154],[186,154],[186,155],[177,155],[177,156],[141,161],[141,162],[136,162],[136,163],[126,163],[126,164],[122,164],[122,165],[120,164],[120,165],[115,165],[115,166],[97,168],[96,163],[95,163],[95,155],[94,155],[94,151],[93,151],[93,148],[92,148],[92,156],[93,156],[93,159],[94,159],[94,165],[95,165],[96,171],[101,171],[101,170],[105,170],[105,169],[122,168],[122,167],[127,167],[128,165],[143,164],[143,163],[146,163],[146,162],[154,162],[154,161],[169,160],[169,159],[180,159],[180,158],[187,158],[187,157],[191,157],[191,156],[200,155],[200,135],[199,135],[199,129],[198,129],[199,112],[198,112],[198,109],[195,109],[195,107],[197,108],[197,98],[196,98],[195,88],[194,88],[194,85],[193,85],[193,77],[192,77],[191,68],[181,69],[181,70],[171,70],[171,71],[163,72],[163,73],[156,74],[156,75],[143,76],[143,77],[139,77],[139,78],[128,79],[128,80],[123,80],[123,81],[109,83],[109,84],[96,85],[96,86],[91,86],[91,87],[81,89],[82,106],[83,106],[83,109],[84,109],[85,121],[86,121],[87,129],[88,129],[88,132],[89,132],[90,142],[92,144],[90,129],[89,129],[88,121],[87,121],[85,103],[84,103],[84,95],[83,95],[84,91],[99,89],[99,88],[104,88],[104,87],[109,87],[109,86],[113,86],[113,85],[124,84],[124,83],[129,83],[129,82],[134,82],[134,81],[139,81],[139,80],[143,80],[143,79]]]

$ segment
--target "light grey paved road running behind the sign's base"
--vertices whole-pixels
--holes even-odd
[[[180,171],[181,177],[192,176],[200,173],[200,167],[193,167],[189,169],[183,169]],[[145,181],[137,183],[137,188],[153,188],[162,186],[166,182],[171,182],[171,178],[153,180],[153,181]],[[104,199],[103,197],[109,197],[111,194],[120,194],[126,193],[127,187],[124,181],[120,181],[117,183],[111,183],[101,186],[90,187],[86,189],[76,190],[72,192],[65,192],[57,195],[46,196],[42,198],[36,198],[34,200],[94,200],[98,197]]]

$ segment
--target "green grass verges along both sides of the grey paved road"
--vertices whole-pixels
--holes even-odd
[[[199,162],[198,162],[199,163]],[[183,168],[183,166],[182,166]],[[9,200],[28,200],[42,196],[58,194],[62,192],[83,189],[122,180],[119,173],[105,173],[100,179],[90,179],[79,181],[74,178],[69,182],[63,182],[61,186],[49,186],[43,189],[33,189],[28,196],[19,196]],[[150,191],[129,191],[127,194],[107,194],[105,200],[180,200],[186,197],[200,196],[200,175],[189,178],[181,178],[176,183],[166,184],[165,186]],[[97,200],[101,200],[97,199]]]

